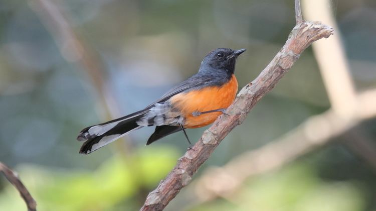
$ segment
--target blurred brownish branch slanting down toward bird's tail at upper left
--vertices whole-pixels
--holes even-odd
[[[51,0],[28,0],[30,7],[38,15],[54,38],[63,58],[73,64],[81,65],[85,76],[89,78],[93,87],[93,96],[96,96],[99,108],[98,113],[102,114],[103,120],[112,120],[121,116],[116,99],[106,84],[107,75],[105,65],[101,58],[93,51],[82,38],[77,35],[69,24],[68,14],[63,14],[54,1]],[[102,113],[104,111],[104,114]],[[78,131],[79,132],[79,131]],[[77,132],[77,134],[78,134]],[[127,138],[129,139],[129,137]],[[131,150],[130,140],[116,142],[117,150],[128,157]]]

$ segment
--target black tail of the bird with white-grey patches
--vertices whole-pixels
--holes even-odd
[[[134,130],[142,128],[136,122],[147,112],[146,109],[141,110],[116,120],[83,129],[77,137],[78,141],[85,141],[81,146],[80,153],[89,154]]]

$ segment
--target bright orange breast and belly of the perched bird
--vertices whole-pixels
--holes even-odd
[[[222,86],[210,86],[176,94],[170,101],[185,118],[185,128],[200,128],[212,124],[222,113],[213,112],[198,117],[192,113],[226,109],[234,101],[237,92],[238,81],[235,75],[232,75],[230,81]]]

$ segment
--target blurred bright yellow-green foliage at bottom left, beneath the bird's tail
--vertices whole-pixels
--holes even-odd
[[[22,165],[18,172],[38,202],[38,210],[134,210],[132,198],[140,189],[151,189],[176,163],[169,147],[139,149],[125,159],[121,155],[104,161],[94,171]],[[16,189],[9,185],[0,194],[0,210],[23,210]],[[125,202],[124,202],[125,200]]]

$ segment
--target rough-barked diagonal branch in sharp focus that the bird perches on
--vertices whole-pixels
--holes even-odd
[[[269,92],[292,67],[300,54],[314,41],[328,38],[331,27],[319,22],[301,22],[291,31],[288,40],[269,65],[252,82],[243,87],[234,103],[204,132],[158,187],[149,193],[140,210],[162,210],[185,185],[189,184],[198,168],[236,126],[242,124],[254,105]]]

